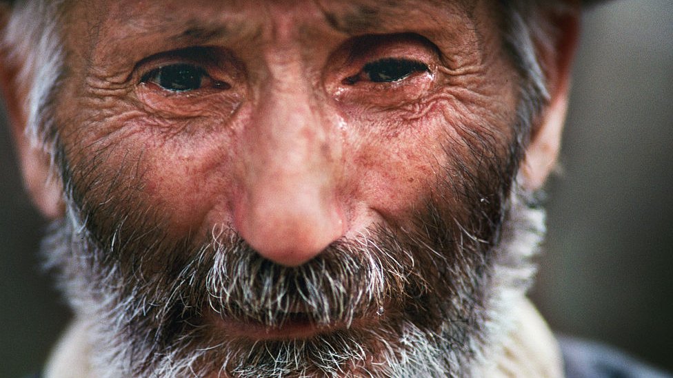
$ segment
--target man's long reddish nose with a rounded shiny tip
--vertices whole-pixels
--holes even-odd
[[[245,129],[243,190],[234,204],[241,237],[285,266],[308,262],[343,234],[338,146],[310,88],[298,82],[265,85]]]

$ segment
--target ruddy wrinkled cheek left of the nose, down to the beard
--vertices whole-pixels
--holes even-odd
[[[96,133],[72,133],[80,139],[68,148],[73,152],[68,158],[86,210],[107,227],[130,216],[134,227],[154,222],[175,237],[203,237],[205,217],[213,209],[217,223],[231,222],[232,135],[228,127],[205,119],[159,121],[121,113],[106,118],[105,125],[80,130]]]

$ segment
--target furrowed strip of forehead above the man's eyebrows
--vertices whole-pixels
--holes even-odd
[[[86,19],[90,25],[163,27],[170,24],[197,23],[228,25],[228,32],[261,28],[274,19],[301,25],[328,23],[339,32],[360,34],[390,31],[414,21],[439,21],[447,14],[474,11],[480,1],[457,0],[179,0],[67,1],[74,19]]]

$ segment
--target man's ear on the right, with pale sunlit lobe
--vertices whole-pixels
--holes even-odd
[[[536,39],[535,44],[550,98],[534,121],[519,171],[519,182],[528,190],[539,189],[544,184],[559,156],[580,14],[579,6],[568,5],[559,12],[539,15],[543,37]]]

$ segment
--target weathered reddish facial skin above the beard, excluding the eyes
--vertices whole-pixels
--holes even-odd
[[[64,32],[58,123],[72,164],[95,172],[75,180],[100,202],[141,189],[124,196],[175,235],[231,224],[265,258],[297,266],[344,235],[402,222],[452,165],[445,149],[468,155],[466,133],[505,145],[512,132],[516,80],[483,5],[372,1],[368,19],[346,25],[361,14],[350,1],[94,3],[74,4]],[[208,47],[180,50],[192,45]],[[391,57],[430,69],[346,81]],[[174,63],[209,77],[188,92],[141,80]]]

